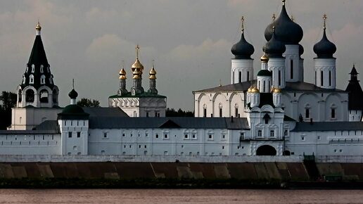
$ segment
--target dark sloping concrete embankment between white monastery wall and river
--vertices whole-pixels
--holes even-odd
[[[319,181],[304,162],[1,162],[0,187],[279,188],[299,182],[321,186],[326,179],[362,186],[363,163],[316,167]]]

